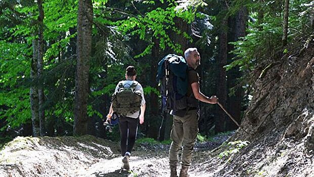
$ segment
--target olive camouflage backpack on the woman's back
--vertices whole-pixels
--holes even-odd
[[[140,110],[142,96],[140,91],[135,91],[137,85],[137,81],[133,81],[132,84],[123,84],[123,81],[118,83],[118,92],[112,95],[111,100],[112,108],[117,114],[126,116]]]

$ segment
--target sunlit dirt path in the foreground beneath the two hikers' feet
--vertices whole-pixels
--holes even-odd
[[[132,156],[130,158],[129,170],[121,170],[121,157],[115,157],[112,159],[102,159],[99,162],[89,166],[87,169],[77,171],[75,176],[91,176],[91,177],[100,177],[100,176],[110,176],[110,177],[117,177],[117,176],[170,176],[170,169],[169,169],[169,159],[168,154],[165,151],[163,154],[161,152],[157,152],[156,154],[144,154],[141,152],[142,155],[139,156]],[[194,159],[200,158],[202,156],[201,153],[194,153]],[[178,165],[177,172],[180,171],[180,165]],[[205,177],[209,176],[204,174],[202,171],[202,164],[197,163],[197,161],[192,161],[192,165],[189,170],[189,174],[191,177],[199,176]]]

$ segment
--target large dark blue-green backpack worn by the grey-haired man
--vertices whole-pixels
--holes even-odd
[[[197,107],[198,102],[187,96],[188,65],[181,56],[169,54],[158,63],[157,81],[160,81],[162,110],[189,109]],[[194,101],[195,100],[195,101]]]

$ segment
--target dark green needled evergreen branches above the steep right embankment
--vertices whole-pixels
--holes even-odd
[[[305,6],[306,1],[290,1],[289,5],[289,32],[288,43],[297,42],[300,35],[304,35],[309,31],[309,13]],[[249,11],[249,23],[247,35],[235,42],[233,62],[225,66],[230,70],[236,66],[244,73],[243,77],[250,77],[249,72],[254,70],[257,64],[265,59],[277,58],[277,51],[287,54],[288,49],[282,49],[282,33],[283,33],[283,12],[280,2],[250,2],[250,1],[233,1],[229,15],[236,14],[241,6],[245,6]],[[251,83],[243,83],[251,84]]]

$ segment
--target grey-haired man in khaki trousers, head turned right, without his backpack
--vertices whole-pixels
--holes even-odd
[[[205,103],[216,104],[218,100],[216,96],[209,98],[200,92],[199,76],[195,70],[200,65],[201,59],[197,49],[187,49],[185,51],[185,59],[189,67],[187,97],[190,98],[188,100],[196,99]],[[198,103],[198,101],[196,103]],[[182,147],[182,144],[182,168],[180,171],[180,177],[189,176],[188,170],[191,164],[192,151],[198,132],[198,112],[198,104],[194,104],[194,106],[190,106],[184,110],[170,112],[170,114],[173,115],[173,126],[170,135],[172,143],[169,150],[170,177],[177,177],[176,165],[178,163],[178,151]]]

